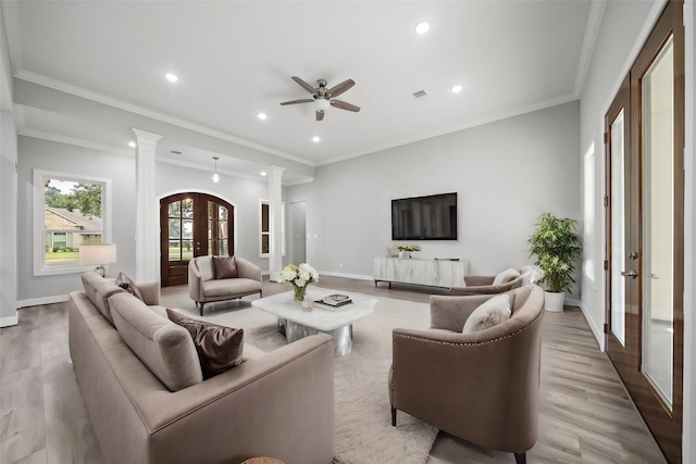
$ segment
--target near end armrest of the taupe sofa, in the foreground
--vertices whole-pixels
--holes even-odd
[[[169,394],[161,410],[148,416],[152,462],[273,455],[287,463],[325,464],[333,459],[330,336],[307,337]]]

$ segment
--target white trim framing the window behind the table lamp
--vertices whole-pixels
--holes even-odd
[[[50,276],[62,274],[77,274],[91,271],[95,266],[46,266],[46,230],[45,230],[45,209],[46,196],[44,181],[46,179],[57,179],[65,181],[79,181],[90,184],[101,184],[101,237],[103,243],[111,243],[111,179],[104,177],[85,176],[80,174],[61,173],[57,171],[34,170],[34,234],[32,239],[32,254],[34,262],[34,276]]]

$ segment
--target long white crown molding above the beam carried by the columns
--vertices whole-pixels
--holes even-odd
[[[74,95],[76,97],[80,97],[87,100],[96,101],[101,104],[105,104],[109,106],[117,108],[123,111],[127,111],[129,113],[139,114],[140,116],[149,117],[152,120],[160,121],[162,123],[171,124],[177,127],[182,127],[184,129],[192,130],[198,134],[202,134],[209,137],[214,137],[221,140],[229,141],[232,143],[236,143],[243,147],[251,148],[253,150],[258,150],[268,154],[272,154],[274,156],[281,156],[286,160],[295,161],[297,163],[301,163],[311,167],[316,166],[315,163],[308,161],[306,159],[295,156],[289,153],[285,153],[279,150],[272,149],[270,147],[262,146],[260,143],[256,143],[240,137],[233,136],[231,134],[224,133],[222,130],[213,129],[200,124],[191,123],[189,121],[185,121],[178,117],[170,116],[167,114],[163,114],[157,111],[148,110],[142,106],[138,106],[137,104],[128,103],[123,100],[119,100],[112,97],[107,97],[102,93],[94,92],[91,90],[84,89],[82,87],[73,86],[71,84],[63,83],[61,80],[52,79],[50,77],[42,76],[37,73],[33,73],[30,71],[18,71],[14,74],[14,77],[17,79],[26,80],[28,83],[37,84],[39,86],[48,87],[54,90],[59,90],[65,93]]]

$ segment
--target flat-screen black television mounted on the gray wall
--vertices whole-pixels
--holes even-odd
[[[391,240],[457,240],[457,192],[391,200]]]

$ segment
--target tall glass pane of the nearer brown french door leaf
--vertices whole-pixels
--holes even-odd
[[[643,77],[642,371],[672,409],[674,269],[674,65],[672,39]]]

